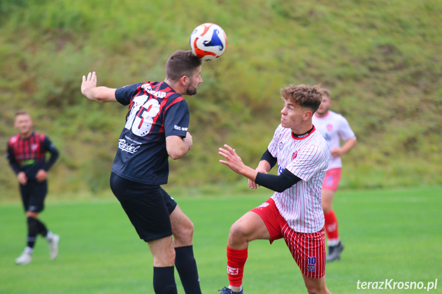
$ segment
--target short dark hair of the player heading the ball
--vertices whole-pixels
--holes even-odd
[[[201,59],[193,55],[192,51],[177,50],[167,59],[166,79],[176,82],[182,76],[190,77],[201,63]]]

